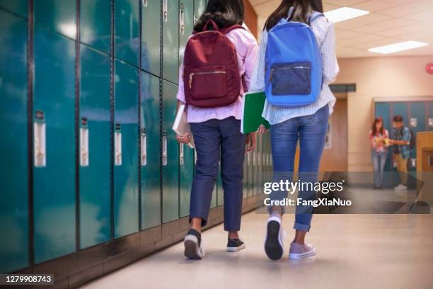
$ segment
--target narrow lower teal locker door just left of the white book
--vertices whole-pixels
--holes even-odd
[[[163,80],[163,222],[179,217],[179,145],[171,129],[176,116],[177,92],[178,86]]]

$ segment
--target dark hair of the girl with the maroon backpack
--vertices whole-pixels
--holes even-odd
[[[226,28],[235,24],[242,25],[245,18],[243,0],[209,0],[206,10],[194,26],[194,30],[203,30],[207,21],[212,20],[219,28]]]

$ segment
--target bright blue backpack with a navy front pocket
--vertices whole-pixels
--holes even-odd
[[[313,13],[309,23],[323,13]],[[275,106],[306,106],[322,90],[322,57],[316,36],[305,23],[282,19],[268,34],[265,94]]]

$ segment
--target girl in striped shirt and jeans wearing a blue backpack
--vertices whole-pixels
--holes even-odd
[[[322,1],[283,0],[265,23],[250,84],[250,91],[266,94],[262,116],[271,125],[273,181],[291,181],[298,141],[299,180],[317,181],[328,118],[335,105],[328,84],[338,72],[334,26],[323,15]],[[258,132],[265,132],[265,128]],[[274,192],[272,198],[287,198],[287,191]],[[301,190],[298,198],[311,200],[316,192]],[[283,254],[283,214],[283,207],[270,208],[265,252],[272,260],[281,259]],[[311,207],[296,208],[296,233],[289,259],[315,254],[314,247],[305,243],[311,218]]]

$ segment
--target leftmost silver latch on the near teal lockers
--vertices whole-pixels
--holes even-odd
[[[45,115],[43,111],[35,112],[35,123],[33,125],[33,154],[35,154],[35,166],[44,167],[47,165],[47,154],[46,154],[46,126],[45,126]]]

